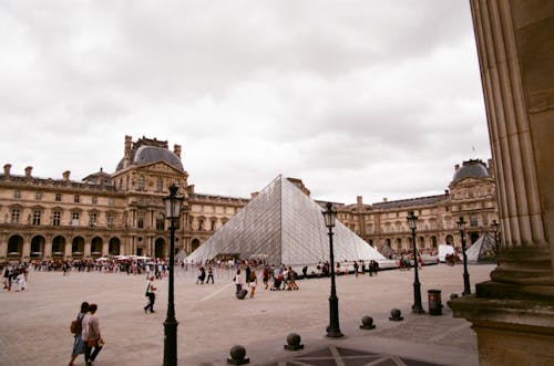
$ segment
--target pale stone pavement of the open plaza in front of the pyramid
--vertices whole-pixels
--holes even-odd
[[[471,283],[489,279],[494,265],[470,265]],[[226,365],[229,349],[243,345],[250,365],[478,365],[476,338],[464,320],[452,318],[445,302],[463,287],[462,265],[420,271],[423,306],[427,291],[442,291],[443,315],[410,312],[413,271],[390,270],[378,276],[337,278],[342,338],[328,338],[329,279],[298,281],[299,291],[265,291],[255,299],[234,297],[233,273],[216,272],[215,284],[195,284],[196,273],[178,269],[175,310],[179,322],[179,365]],[[144,314],[145,278],[124,273],[44,273],[31,271],[23,292],[0,293],[0,366],[66,365],[69,325],[82,301],[99,304],[106,344],[94,363],[161,365],[167,280],[158,283],[156,313]],[[402,322],[389,321],[401,310]],[[377,327],[360,330],[365,315]],[[290,333],[302,351],[284,349]],[[84,365],[79,357],[75,365]]]

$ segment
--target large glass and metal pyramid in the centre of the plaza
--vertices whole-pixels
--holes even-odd
[[[275,178],[225,226],[192,252],[187,261],[218,257],[265,259],[268,264],[309,265],[329,260],[322,208],[283,176]],[[384,260],[376,249],[337,220],[336,261]]]

